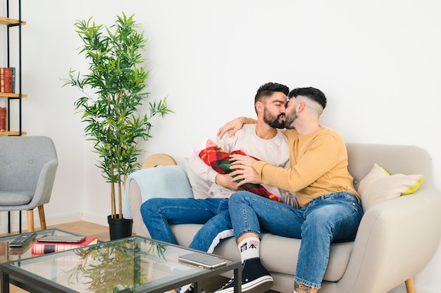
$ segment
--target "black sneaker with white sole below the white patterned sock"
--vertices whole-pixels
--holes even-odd
[[[270,273],[263,268],[259,258],[246,259],[242,263],[242,292],[263,293],[273,287],[274,281]],[[235,280],[231,278],[215,293],[232,293],[235,291]]]

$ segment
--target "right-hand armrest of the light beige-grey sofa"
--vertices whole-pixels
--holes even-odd
[[[328,284],[337,287],[331,292],[388,292],[421,271],[440,244],[440,211],[441,193],[433,187],[369,209],[346,273]]]

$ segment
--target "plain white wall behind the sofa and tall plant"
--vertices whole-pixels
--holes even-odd
[[[75,20],[93,15],[97,23],[111,25],[121,11],[136,13],[149,39],[151,100],[168,96],[175,111],[153,120],[154,138],[144,143],[140,161],[166,152],[183,164],[194,143],[215,136],[224,122],[253,117],[256,89],[273,81],[323,90],[328,108],[322,122],[348,142],[425,148],[441,189],[440,1],[22,2],[23,90],[29,95],[23,130],[53,138],[60,160],[46,206],[49,224],[70,219],[106,224],[108,186],[94,167],[80,117],[73,114],[80,92],[62,88],[60,78],[71,67],[85,67],[77,56]],[[441,292],[440,254],[416,276],[417,292]]]

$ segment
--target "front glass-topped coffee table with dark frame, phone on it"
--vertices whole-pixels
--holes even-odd
[[[0,264],[1,292],[9,292],[11,283],[39,293],[163,293],[228,271],[242,279],[240,261],[225,259],[219,268],[201,268],[178,260],[191,252],[196,251],[135,236],[18,259]],[[237,283],[235,292],[240,292]]]

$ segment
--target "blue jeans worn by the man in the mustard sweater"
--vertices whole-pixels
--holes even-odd
[[[302,209],[268,200],[247,191],[230,197],[229,210],[236,240],[243,233],[261,230],[302,239],[295,282],[320,288],[328,266],[331,242],[354,240],[363,209],[352,193],[316,197]]]

